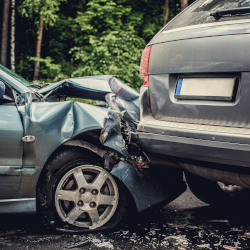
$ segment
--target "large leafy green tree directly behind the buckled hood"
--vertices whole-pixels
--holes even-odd
[[[135,26],[142,15],[113,0],[91,0],[87,6],[78,12],[73,26],[79,35],[71,53],[79,66],[72,76],[110,74],[140,87],[139,65],[146,43]]]

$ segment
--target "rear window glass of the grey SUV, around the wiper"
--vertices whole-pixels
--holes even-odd
[[[250,0],[200,0],[195,2],[173,22],[167,25],[164,31],[204,23],[250,19],[249,14],[227,15],[222,16],[219,20],[215,20],[214,17],[210,16],[210,13],[215,12],[217,10],[242,7],[250,7]]]

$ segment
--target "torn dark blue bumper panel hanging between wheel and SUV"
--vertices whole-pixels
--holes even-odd
[[[182,181],[183,172],[168,170],[139,171],[136,166],[120,161],[111,174],[127,186],[140,212],[162,202],[167,204],[186,190],[186,184]]]

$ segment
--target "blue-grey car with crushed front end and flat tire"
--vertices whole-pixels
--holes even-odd
[[[0,212],[89,232],[178,197],[182,171],[154,167],[131,141],[139,113],[139,94],[113,76],[32,85],[0,65]]]

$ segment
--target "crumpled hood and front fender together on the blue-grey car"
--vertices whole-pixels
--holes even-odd
[[[104,100],[109,108],[75,101],[48,102],[44,99],[32,102],[30,92],[22,94],[24,105],[20,105],[18,110],[23,120],[24,134],[36,138],[32,148],[28,149],[26,145],[26,154],[33,154],[33,157],[26,159],[47,159],[50,152],[63,142],[94,129],[102,131],[100,141],[104,146],[128,156],[121,123],[136,127],[139,122],[139,94],[135,90],[116,77],[93,76],[66,79],[49,84],[37,92],[48,100],[51,96]],[[38,165],[43,164],[40,162]]]

